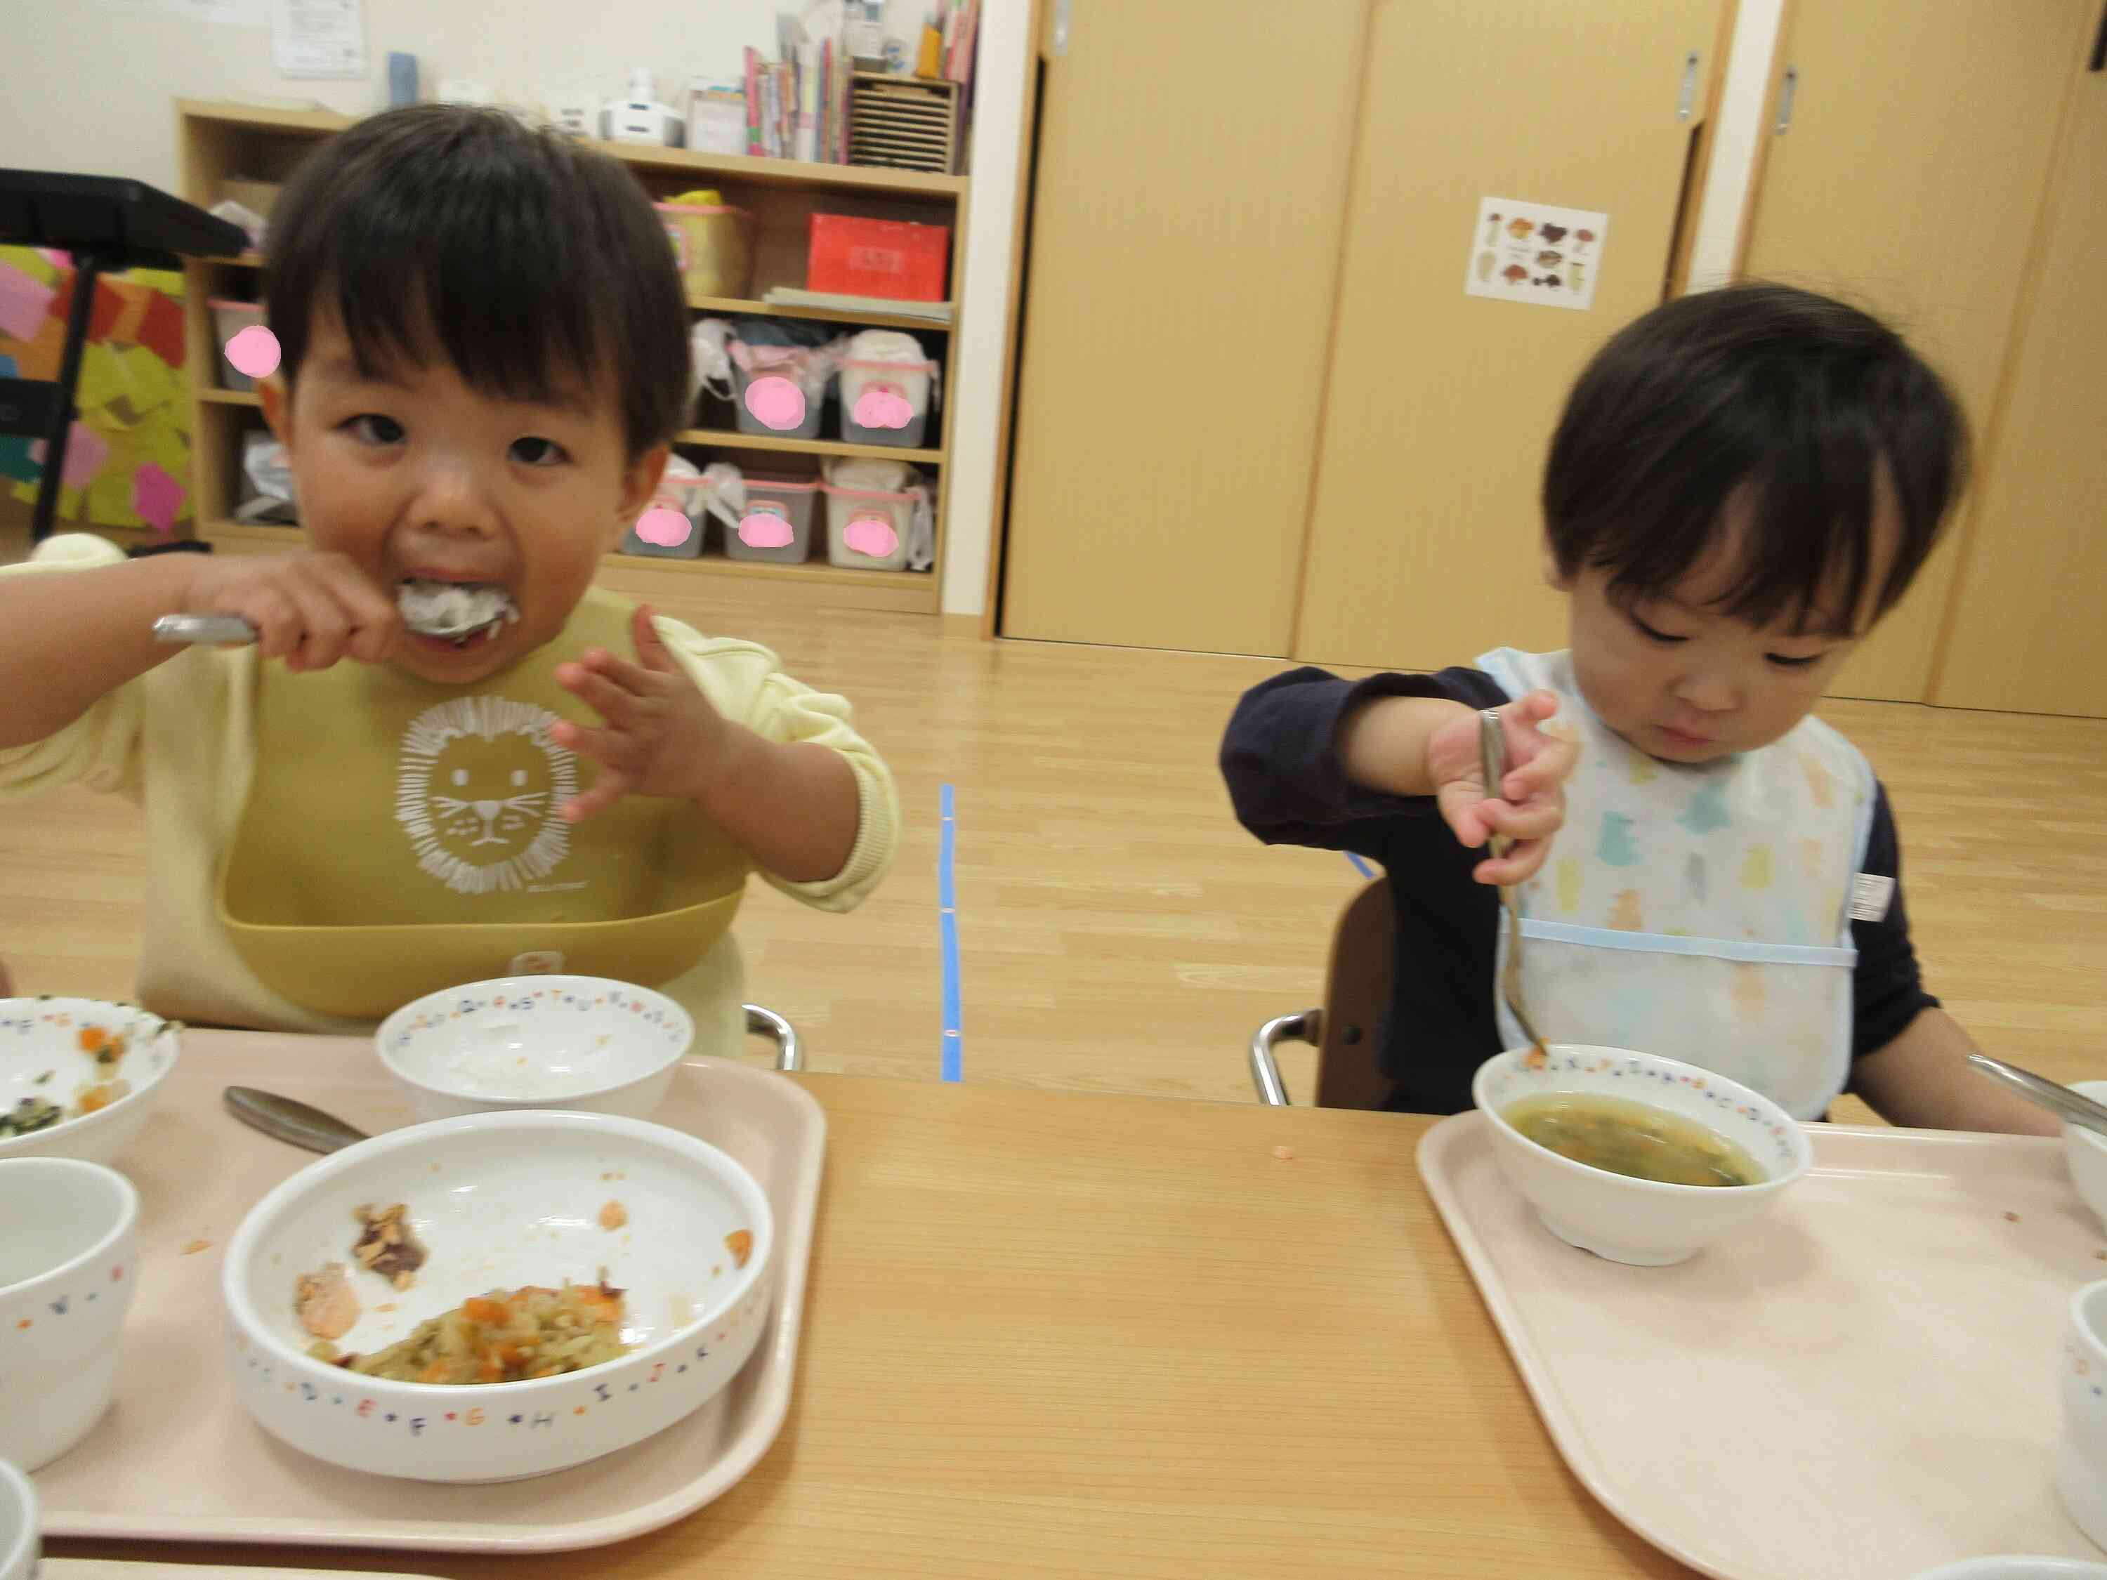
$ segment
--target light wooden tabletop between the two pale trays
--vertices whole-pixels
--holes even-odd
[[[1690,1574],[1559,1462],[1420,1188],[1431,1121],[801,1079],[830,1157],[796,1395],[716,1504],[552,1557],[53,1557],[464,1580]]]

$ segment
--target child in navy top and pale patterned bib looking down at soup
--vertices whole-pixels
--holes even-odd
[[[1810,712],[1964,468],[1953,396],[1877,320],[1785,287],[1683,297],[1595,356],[1551,442],[1568,651],[1302,668],[1243,697],[1222,744],[1243,826],[1391,874],[1393,1108],[1469,1108],[1473,1070],[1528,1041],[1496,1005],[1513,885],[1547,1041],[1700,1064],[1799,1119],[1850,1089],[1896,1125],[2056,1131],[1964,1064],[1917,973],[1888,796]],[[1481,860],[1490,836],[1513,845]]]

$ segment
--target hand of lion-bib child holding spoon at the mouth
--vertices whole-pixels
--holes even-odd
[[[327,670],[337,659],[379,664],[402,640],[394,598],[343,554],[200,554],[185,615],[240,615],[257,628],[257,653],[289,670]]]

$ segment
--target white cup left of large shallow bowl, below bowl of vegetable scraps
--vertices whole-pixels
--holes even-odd
[[[139,1192],[80,1159],[0,1159],[0,1460],[38,1470],[110,1409]]]

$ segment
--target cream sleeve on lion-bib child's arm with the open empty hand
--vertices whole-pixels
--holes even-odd
[[[820,883],[790,883],[763,870],[773,887],[818,910],[855,910],[879,887],[900,847],[900,792],[893,771],[855,733],[847,697],[813,691],[792,680],[769,649],[723,636],[704,636],[678,619],[659,617],[659,640],[702,687],[725,718],[746,725],[771,742],[811,742],[841,752],[855,773],[858,826],[855,849],[847,866]]]

